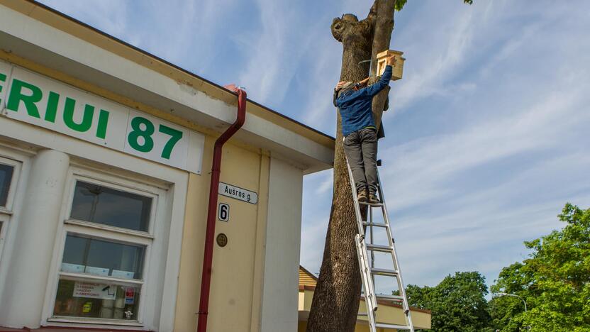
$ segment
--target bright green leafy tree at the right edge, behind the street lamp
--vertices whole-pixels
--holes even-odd
[[[494,328],[502,332],[590,331],[590,209],[566,204],[559,218],[566,226],[525,242],[533,252],[522,263],[503,268],[492,292],[517,294],[490,303]]]

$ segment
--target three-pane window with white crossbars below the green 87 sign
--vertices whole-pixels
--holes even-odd
[[[52,318],[140,323],[157,189],[74,177],[70,197]]]

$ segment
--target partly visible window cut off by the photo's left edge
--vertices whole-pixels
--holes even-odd
[[[20,169],[21,162],[0,157],[0,257],[12,216],[12,201]]]

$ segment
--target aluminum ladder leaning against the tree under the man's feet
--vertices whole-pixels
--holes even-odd
[[[380,165],[380,161],[378,165]],[[364,292],[364,303],[367,305],[367,319],[369,321],[369,331],[376,332],[377,328],[396,328],[398,331],[411,331],[414,332],[412,323],[412,317],[410,314],[410,306],[408,305],[408,297],[406,297],[406,289],[403,287],[403,280],[401,279],[401,270],[399,267],[399,260],[396,254],[396,244],[393,236],[391,236],[391,226],[389,223],[389,216],[387,215],[387,208],[385,205],[385,197],[383,194],[383,187],[381,185],[381,179],[379,178],[379,171],[377,171],[377,192],[379,193],[379,199],[381,202],[378,204],[371,204],[368,201],[360,202],[357,197],[357,189],[355,186],[355,180],[352,179],[352,170],[346,159],[346,167],[348,168],[348,177],[350,178],[350,189],[352,189],[352,198],[355,201],[355,214],[357,216],[358,233],[355,236],[355,242],[357,247],[357,256],[359,259],[360,275],[362,278],[362,287]],[[360,206],[367,206],[368,221],[363,221],[360,211]],[[381,209],[383,214],[382,223],[373,222],[373,209]],[[369,243],[367,243],[367,236],[365,236],[365,230],[369,228]],[[387,232],[387,238],[389,239],[386,245],[373,243],[374,234],[373,228],[385,228]],[[375,267],[374,253],[382,252],[391,254],[392,269],[384,269]],[[369,265],[369,255],[371,253],[371,262]],[[399,289],[399,295],[387,295],[387,294],[375,294],[374,284],[375,275],[382,275],[386,277],[394,277],[397,282]],[[384,299],[387,301],[395,301],[401,303],[403,314],[406,316],[406,325],[396,325],[388,323],[378,323],[375,317],[375,311],[377,311],[377,300]]]

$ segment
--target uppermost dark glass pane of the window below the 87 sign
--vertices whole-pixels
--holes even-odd
[[[78,181],[71,218],[147,232],[151,208],[150,197]]]

